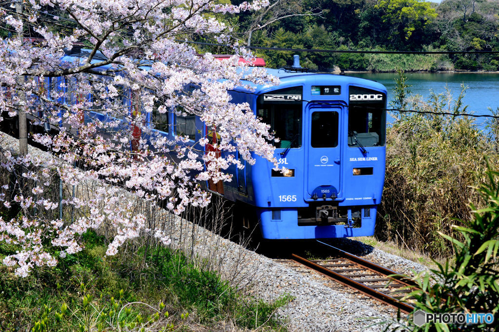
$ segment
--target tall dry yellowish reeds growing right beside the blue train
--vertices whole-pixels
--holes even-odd
[[[403,73],[394,107],[419,111],[466,113],[465,88],[458,96],[432,93],[428,100],[410,96]],[[499,121],[484,131],[472,117],[417,113],[392,114],[387,130],[386,178],[376,234],[407,249],[447,256],[452,246],[439,232],[458,236],[452,225],[466,226],[469,203],[485,206],[474,189],[487,178],[486,159],[499,168]]]

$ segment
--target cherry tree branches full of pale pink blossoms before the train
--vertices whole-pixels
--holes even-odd
[[[16,176],[2,187],[0,199],[4,208],[20,211],[10,220],[0,218],[0,241],[18,248],[3,264],[19,276],[35,266],[54,266],[57,257],[49,247],[58,248],[60,257],[76,253],[81,235],[104,223],[114,234],[108,255],[141,234],[168,244],[165,231],[150,228],[144,215],[116,210],[126,199],[119,188],[166,202],[180,214],[189,205],[209,203],[200,181],[230,181],[228,167],[243,167],[234,152],[250,164],[254,153],[277,165],[269,127],[248,104],[231,103],[230,95],[238,86],[250,88],[249,82],[277,80],[263,68],[239,63],[240,56],[250,63],[252,55],[237,47],[224,23],[225,14],[266,5],[268,0],[3,2],[2,26],[14,33],[0,42],[1,120],[25,112],[40,128],[51,128],[32,138],[56,156],[1,153],[1,167]],[[236,55],[220,61],[178,41],[201,36],[233,43]],[[215,151],[204,152],[208,137],[192,144],[187,135],[153,130],[171,125],[161,122],[167,112],[179,119],[198,116],[219,137]],[[62,201],[83,211],[75,220],[60,218],[59,202],[46,195],[54,177],[66,185],[99,184],[92,199]]]

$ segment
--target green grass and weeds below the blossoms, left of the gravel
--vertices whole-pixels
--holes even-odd
[[[0,266],[0,331],[115,331],[118,326],[191,331],[194,325],[210,330],[224,321],[243,329],[285,331],[275,311],[288,297],[273,303],[245,297],[216,273],[167,248],[135,254],[123,250],[103,258],[104,238],[90,231],[84,238],[82,252],[23,279]],[[0,259],[14,249],[1,243]],[[68,308],[64,315],[63,304]]]

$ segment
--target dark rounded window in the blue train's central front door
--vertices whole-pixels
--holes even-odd
[[[310,144],[314,148],[338,146],[338,112],[313,112]]]

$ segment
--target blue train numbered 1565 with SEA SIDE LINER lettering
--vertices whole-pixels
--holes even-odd
[[[78,55],[64,60],[73,56]],[[270,125],[280,138],[275,156],[287,170],[274,171],[261,157],[253,156],[256,163],[250,165],[235,156],[246,167],[229,169],[232,182],[203,185],[242,205],[244,226],[257,220],[263,239],[373,235],[385,175],[386,88],[366,79],[304,72],[299,64],[267,71],[279,77],[279,85],[239,87],[231,91],[232,102],[249,103]],[[132,100],[124,101],[131,112]],[[90,113],[86,120],[105,121]],[[192,144],[201,137],[217,140],[196,116],[153,113],[146,121],[155,122],[162,135],[189,136]],[[214,151],[212,144],[207,151]]]

